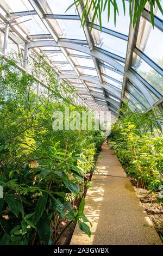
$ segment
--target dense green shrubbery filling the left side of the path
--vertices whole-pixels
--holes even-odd
[[[90,235],[84,198],[78,211],[72,200],[82,197],[103,138],[95,131],[54,131],[53,112],[68,100],[58,102],[61,96],[52,92],[36,97],[33,77],[10,64],[0,67],[0,244],[51,244],[60,217],[78,220]]]

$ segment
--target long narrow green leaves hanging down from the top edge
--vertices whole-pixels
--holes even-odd
[[[72,3],[70,7],[67,8],[67,10],[70,9],[74,4],[76,5],[76,7],[78,7],[80,4],[82,4],[82,2],[83,0],[74,1],[74,3]],[[146,5],[149,5],[149,14],[151,15],[151,22],[153,26],[154,26],[154,9],[158,7],[160,12],[163,14],[163,10],[159,0],[143,0],[143,1],[129,0],[128,2],[129,2],[130,21],[131,23],[133,23],[133,27],[135,26],[137,19],[141,17],[143,9],[146,7]],[[124,15],[125,15],[126,4],[128,3],[125,0],[122,0],[122,3],[123,3]],[[132,15],[133,4],[134,4],[134,14]],[[88,17],[91,16],[91,29],[93,28],[93,23],[95,22],[95,19],[97,19],[99,22],[99,26],[102,30],[103,11],[107,10],[108,22],[109,22],[110,12],[112,11],[111,8],[113,8],[114,24],[116,26],[116,18],[117,18],[117,15],[119,15],[118,5],[119,3],[116,0],[105,0],[105,1],[86,0],[84,4],[83,13],[82,13],[82,25],[84,26],[87,22]]]

